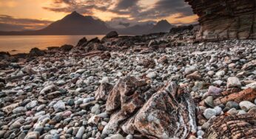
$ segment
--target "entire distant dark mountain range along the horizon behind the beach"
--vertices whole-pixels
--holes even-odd
[[[137,24],[124,29],[109,28],[104,21],[92,16],[70,13],[41,30],[0,31],[0,35],[103,35],[112,30],[124,35],[142,35],[148,33],[167,33],[172,24],[162,20],[157,24]]]

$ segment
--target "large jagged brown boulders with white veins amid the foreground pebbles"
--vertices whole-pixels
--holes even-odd
[[[147,138],[186,138],[196,132],[195,105],[186,87],[169,82],[155,92],[133,77],[120,79],[110,92],[106,109],[112,112],[103,134],[122,129]]]

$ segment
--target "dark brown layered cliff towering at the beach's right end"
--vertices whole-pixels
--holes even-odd
[[[224,40],[256,38],[255,1],[185,0],[199,16],[197,39]]]

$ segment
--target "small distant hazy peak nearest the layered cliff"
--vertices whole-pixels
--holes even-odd
[[[149,30],[148,33],[168,33],[172,27],[174,26],[172,26],[172,24],[169,24],[168,21],[161,20],[158,21],[158,23],[155,24],[155,26],[151,30]]]

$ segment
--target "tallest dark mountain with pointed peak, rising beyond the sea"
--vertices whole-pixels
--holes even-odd
[[[0,35],[100,35],[109,31],[104,21],[73,12],[42,30],[0,32]]]

